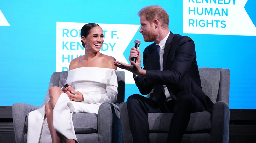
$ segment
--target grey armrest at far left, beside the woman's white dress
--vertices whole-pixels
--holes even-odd
[[[25,103],[15,103],[12,106],[13,127],[16,143],[24,143],[24,133],[26,132],[25,121],[29,112],[39,109],[41,106],[34,106]]]

